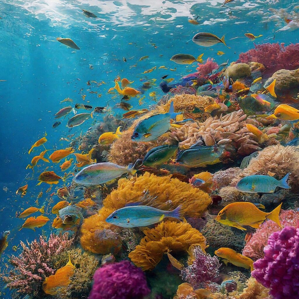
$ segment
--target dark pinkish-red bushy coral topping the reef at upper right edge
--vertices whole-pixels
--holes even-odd
[[[263,64],[267,71],[274,73],[275,71],[286,69],[295,70],[299,68],[299,43],[284,46],[284,43],[266,43],[255,45],[254,49],[250,49],[239,55],[237,62],[258,62]]]

